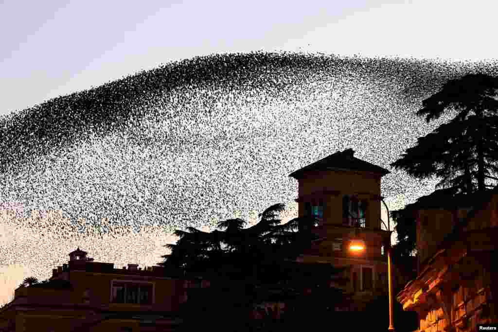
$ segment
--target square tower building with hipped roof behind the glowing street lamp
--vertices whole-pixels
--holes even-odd
[[[381,229],[380,179],[386,169],[354,157],[346,149],[303,167],[289,176],[298,181],[299,217],[313,216],[311,227],[319,236],[300,257],[303,263],[327,263],[346,267],[346,285],[336,284],[352,295],[353,308],[387,291],[387,258],[384,246],[390,233]],[[350,251],[352,238],[361,238],[366,249]]]

